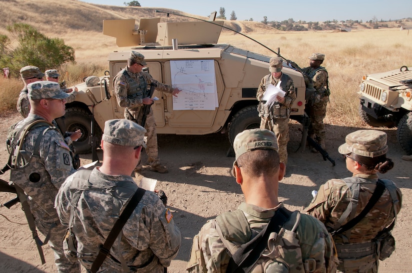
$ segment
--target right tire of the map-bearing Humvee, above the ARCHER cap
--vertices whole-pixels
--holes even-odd
[[[235,137],[246,129],[260,127],[260,117],[256,105],[250,105],[239,110],[229,123],[229,141],[233,146]]]

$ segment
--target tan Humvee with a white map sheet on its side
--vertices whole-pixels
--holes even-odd
[[[104,122],[123,118],[112,79],[127,65],[130,50],[145,56],[149,73],[159,82],[182,89],[177,98],[159,91],[152,105],[157,134],[205,135],[216,132],[234,137],[245,129],[258,128],[256,91],[269,74],[269,56],[229,44],[217,44],[223,21],[160,22],[160,18],[104,20],[103,34],[116,37],[119,47],[109,54],[109,69],[97,86],[78,84],[76,100],[66,104],[66,130],[80,129],[74,145],[79,153],[90,152],[89,136],[100,139]],[[292,77],[297,99],[291,117],[304,115],[306,86],[298,70],[284,62],[283,72]],[[99,143],[99,141],[97,141]]]

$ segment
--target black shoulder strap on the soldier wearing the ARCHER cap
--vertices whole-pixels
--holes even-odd
[[[282,225],[288,221],[291,215],[292,212],[285,208],[276,211],[268,225],[255,238],[243,244],[230,258],[226,272],[250,272],[267,247],[269,235],[272,232],[279,233]]]

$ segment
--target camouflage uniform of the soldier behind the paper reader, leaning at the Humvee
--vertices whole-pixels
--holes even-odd
[[[317,96],[309,100],[305,105],[305,111],[309,115],[311,124],[309,126],[309,136],[316,135],[318,143],[323,143],[326,139],[323,119],[326,117],[326,106],[329,102],[328,71],[325,67],[306,67],[302,70],[313,81],[313,87],[317,91]],[[323,147],[325,148],[325,147]]]

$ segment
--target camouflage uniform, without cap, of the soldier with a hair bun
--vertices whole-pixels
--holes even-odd
[[[359,201],[356,209],[356,215],[358,215],[375,191],[378,175],[355,174],[352,179],[355,183],[360,183]],[[398,187],[396,188],[400,202],[397,202],[395,206],[399,212],[402,206],[402,193]],[[352,197],[353,193],[344,180],[332,179],[320,187],[306,212],[323,222],[329,231],[333,231]],[[394,220],[393,206],[391,195],[386,189],[375,206],[355,227],[334,236],[340,260],[338,271],[345,273],[378,272],[379,257],[376,242],[373,240]],[[354,217],[348,217],[342,225]],[[362,251],[364,253],[361,253]]]

